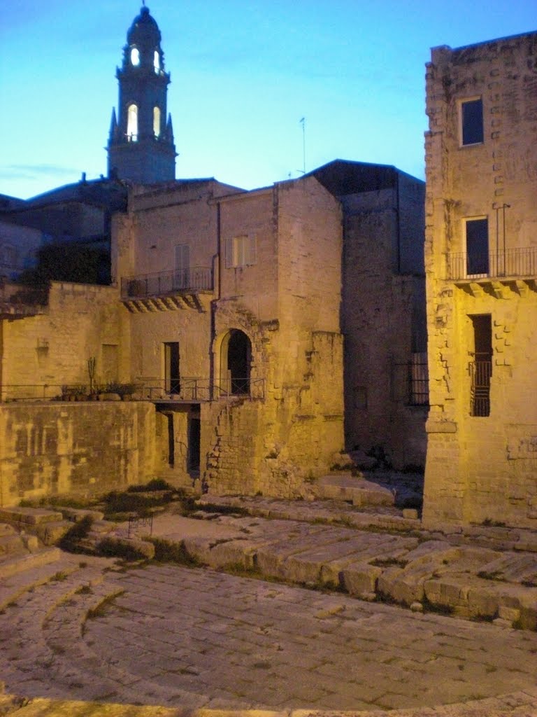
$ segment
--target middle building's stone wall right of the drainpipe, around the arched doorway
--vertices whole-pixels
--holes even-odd
[[[221,337],[243,331],[255,398],[202,407],[209,490],[302,495],[342,450],[340,217],[313,178],[223,203],[223,237],[255,234],[257,262],[223,269],[214,364]]]

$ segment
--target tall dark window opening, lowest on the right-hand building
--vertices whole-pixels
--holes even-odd
[[[473,324],[473,361],[470,362],[470,415],[490,415],[492,376],[492,318],[490,314],[470,316]]]

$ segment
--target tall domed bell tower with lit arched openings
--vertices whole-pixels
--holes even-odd
[[[160,30],[142,6],[132,21],[116,71],[117,116],[112,110],[108,138],[108,176],[135,184],[175,179],[175,145],[171,115],[166,115],[170,74],[164,70]]]

